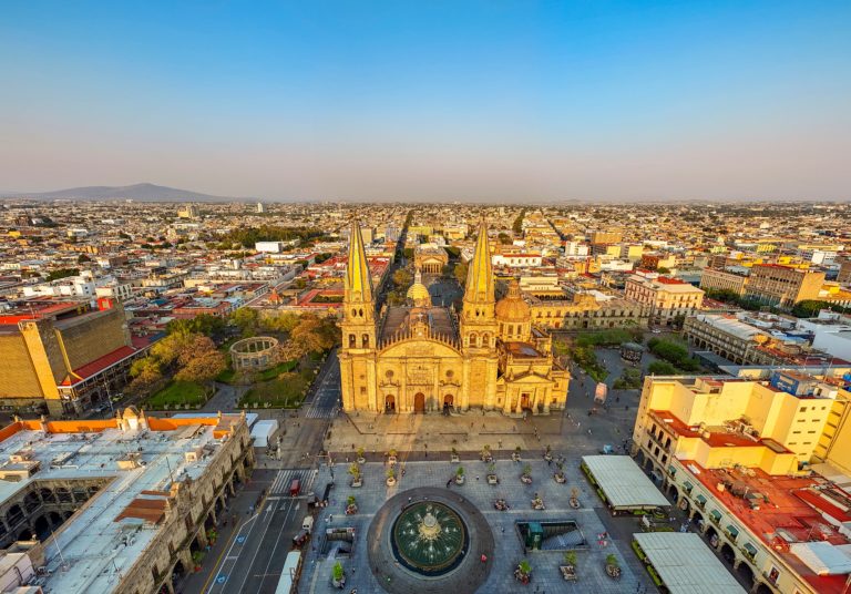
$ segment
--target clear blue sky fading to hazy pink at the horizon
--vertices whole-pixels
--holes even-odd
[[[851,2],[0,2],[0,190],[851,198]]]

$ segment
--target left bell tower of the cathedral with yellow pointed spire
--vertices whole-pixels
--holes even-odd
[[[376,300],[363,237],[351,224],[342,297],[340,381],[344,410],[376,408]]]

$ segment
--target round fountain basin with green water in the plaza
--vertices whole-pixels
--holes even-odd
[[[470,545],[466,525],[449,505],[423,501],[406,508],[391,531],[393,556],[419,575],[440,576],[454,570]]]

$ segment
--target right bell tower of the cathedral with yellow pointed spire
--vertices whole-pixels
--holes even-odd
[[[461,409],[470,406],[490,410],[496,396],[496,298],[491,246],[484,219],[479,224],[475,252],[466,272],[460,334],[464,354],[464,393]]]

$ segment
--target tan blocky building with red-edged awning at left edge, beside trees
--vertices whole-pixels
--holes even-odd
[[[119,303],[98,304],[35,301],[0,316],[1,406],[61,416],[109,401],[144,347]]]

